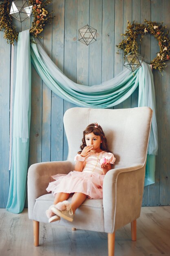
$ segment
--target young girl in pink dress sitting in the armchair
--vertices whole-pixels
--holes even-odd
[[[104,175],[111,169],[115,157],[108,150],[107,140],[102,127],[89,124],[83,132],[81,151],[75,156],[75,171],[52,176],[47,191],[55,196],[54,204],[46,211],[49,222],[64,218],[73,221],[75,210],[86,197],[103,198]],[[71,203],[67,201],[74,193]]]

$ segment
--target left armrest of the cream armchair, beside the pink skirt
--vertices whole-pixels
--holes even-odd
[[[42,162],[32,164],[28,170],[28,213],[29,218],[33,216],[33,207],[36,198],[47,194],[46,191],[51,176],[57,173],[68,174],[73,171],[73,163],[70,161]]]

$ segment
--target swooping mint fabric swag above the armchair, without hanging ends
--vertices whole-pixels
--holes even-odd
[[[74,83],[50,60],[38,40],[36,42],[31,44],[35,70],[55,94],[69,102],[88,108],[110,108],[127,99],[139,85],[139,72],[133,76],[127,69],[101,85],[90,87]]]

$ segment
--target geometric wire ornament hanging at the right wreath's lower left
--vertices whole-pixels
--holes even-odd
[[[134,72],[137,68],[141,67],[142,59],[142,55],[135,52],[130,52],[124,56],[124,66],[130,71]]]

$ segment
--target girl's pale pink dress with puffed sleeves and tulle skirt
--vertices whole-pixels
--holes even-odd
[[[77,157],[75,156],[75,161]],[[102,172],[100,160],[105,157],[110,164],[114,164],[115,157],[112,153],[102,151],[100,153],[92,153],[85,157],[83,171],[71,171],[68,174],[57,174],[51,176],[53,182],[49,183],[47,187],[48,192],[52,192],[55,196],[56,193],[75,193],[81,192],[91,199],[103,198],[103,180],[104,175]]]

